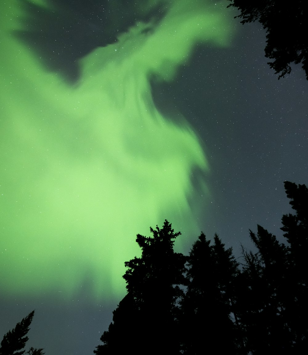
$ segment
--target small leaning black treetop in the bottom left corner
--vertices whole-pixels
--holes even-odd
[[[1,341],[0,355],[22,355],[25,350],[22,350],[28,341],[26,336],[29,331],[29,326],[32,322],[34,311],[23,318],[16,327],[6,333]],[[22,350],[22,351],[18,351]]]

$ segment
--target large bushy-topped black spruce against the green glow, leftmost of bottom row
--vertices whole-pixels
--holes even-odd
[[[165,220],[163,228],[150,228],[153,237],[137,235],[140,258],[125,262],[127,295],[114,311],[113,323],[101,337],[104,345],[94,353],[178,354],[178,302],[183,297],[186,257],[175,253],[174,233]],[[122,343],[122,344],[119,344]]]

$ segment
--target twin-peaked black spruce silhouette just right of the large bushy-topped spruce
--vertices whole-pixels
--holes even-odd
[[[184,354],[236,354],[236,324],[231,298],[237,266],[232,249],[215,235],[214,244],[201,233],[188,257],[187,292],[182,303]],[[215,345],[210,345],[215,344]]]

